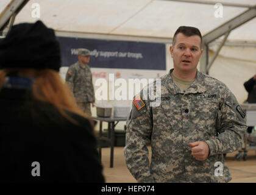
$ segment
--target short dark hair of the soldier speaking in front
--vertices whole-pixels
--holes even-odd
[[[202,35],[199,29],[197,29],[196,27],[192,27],[192,26],[180,26],[175,34],[174,37],[172,38],[172,46],[175,45],[176,43],[176,37],[177,34],[182,33],[183,35],[187,36],[187,37],[191,37],[193,35],[197,35],[200,37],[201,39],[201,43],[200,43],[200,47],[202,48]]]

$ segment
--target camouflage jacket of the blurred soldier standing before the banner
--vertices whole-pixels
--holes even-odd
[[[74,94],[77,102],[94,102],[94,88],[91,69],[79,62],[69,66],[66,72],[66,83]]]

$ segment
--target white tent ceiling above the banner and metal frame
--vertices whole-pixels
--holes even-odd
[[[197,0],[198,1],[198,0]],[[205,2],[213,2],[204,0]],[[10,0],[0,1],[0,12]],[[233,3],[233,0],[214,1]],[[33,18],[32,4],[40,5],[40,18]],[[256,5],[256,0],[235,4]],[[16,23],[41,19],[57,31],[90,34],[172,38],[179,26],[198,27],[202,35],[246,11],[246,7],[223,7],[223,18],[215,18],[215,6],[161,0],[30,0],[18,13]],[[256,18],[233,30],[228,40],[256,41]]]

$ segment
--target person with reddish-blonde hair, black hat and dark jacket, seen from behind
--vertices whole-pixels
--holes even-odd
[[[41,21],[0,41],[0,182],[105,181],[93,123],[59,69],[59,42]]]

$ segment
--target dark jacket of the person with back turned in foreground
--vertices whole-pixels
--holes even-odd
[[[0,182],[104,182],[90,122],[30,97],[0,91]]]

